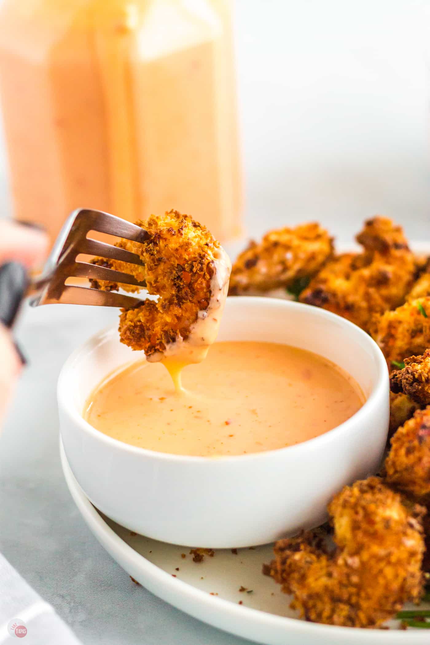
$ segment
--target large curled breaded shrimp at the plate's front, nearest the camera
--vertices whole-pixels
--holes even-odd
[[[422,594],[424,509],[407,509],[378,477],[346,486],[329,504],[333,553],[313,533],[275,544],[271,576],[306,620],[376,627]]]

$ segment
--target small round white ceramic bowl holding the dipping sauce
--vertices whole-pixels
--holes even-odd
[[[318,353],[351,374],[367,401],[337,428],[280,450],[213,459],[136,448],[98,432],[81,415],[107,373],[141,358],[110,328],[73,352],[59,377],[61,436],[75,478],[105,515],[173,544],[253,546],[317,526],[334,493],[380,465],[389,419],[382,352],[333,313],[259,297],[227,299],[218,339],[280,342]]]

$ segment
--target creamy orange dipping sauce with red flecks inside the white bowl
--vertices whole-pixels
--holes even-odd
[[[175,392],[161,363],[109,375],[84,419],[109,437],[175,455],[245,455],[335,428],[364,403],[358,384],[314,353],[269,342],[217,342],[182,372]]]

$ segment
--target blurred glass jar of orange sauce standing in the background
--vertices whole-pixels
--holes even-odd
[[[14,214],[175,208],[240,234],[229,0],[3,0],[0,95]]]

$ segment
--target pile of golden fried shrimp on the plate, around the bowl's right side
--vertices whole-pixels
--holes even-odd
[[[391,446],[380,476],[329,503],[331,546],[308,531],[278,541],[265,567],[302,618],[371,628],[418,604],[430,570],[430,261],[387,217],[367,220],[356,240],[360,252],[336,253],[318,224],[267,233],[233,264],[230,293],[282,287],[360,326],[386,357]]]

